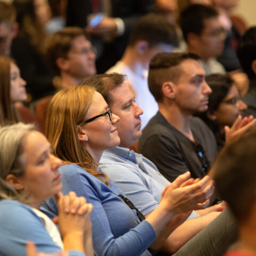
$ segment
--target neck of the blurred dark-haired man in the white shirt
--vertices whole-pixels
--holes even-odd
[[[143,61],[138,52],[132,47],[127,47],[121,61],[129,66],[133,73],[139,76],[143,76],[143,71],[148,68],[147,63],[144,63],[145,61]]]

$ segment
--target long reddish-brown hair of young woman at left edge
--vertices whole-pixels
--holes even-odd
[[[11,102],[11,62],[12,59],[0,56],[0,124],[12,124],[19,121],[17,111]]]

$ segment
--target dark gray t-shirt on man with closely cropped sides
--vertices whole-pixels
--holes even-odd
[[[190,127],[211,166],[217,154],[213,133],[198,117],[191,117]],[[150,159],[171,182],[187,171],[193,178],[202,178],[206,174],[196,153],[195,143],[169,124],[159,111],[142,131],[139,152]]]

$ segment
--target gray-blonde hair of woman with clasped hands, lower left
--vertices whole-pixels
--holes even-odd
[[[0,199],[30,202],[26,190],[15,190],[5,179],[8,174],[21,177],[25,172],[23,144],[31,131],[37,131],[33,124],[17,123],[0,128]]]

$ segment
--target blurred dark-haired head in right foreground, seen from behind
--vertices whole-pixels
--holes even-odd
[[[213,166],[214,186],[226,200],[239,224],[255,219],[256,133],[241,137],[225,148]],[[246,159],[246,160],[245,160]]]

